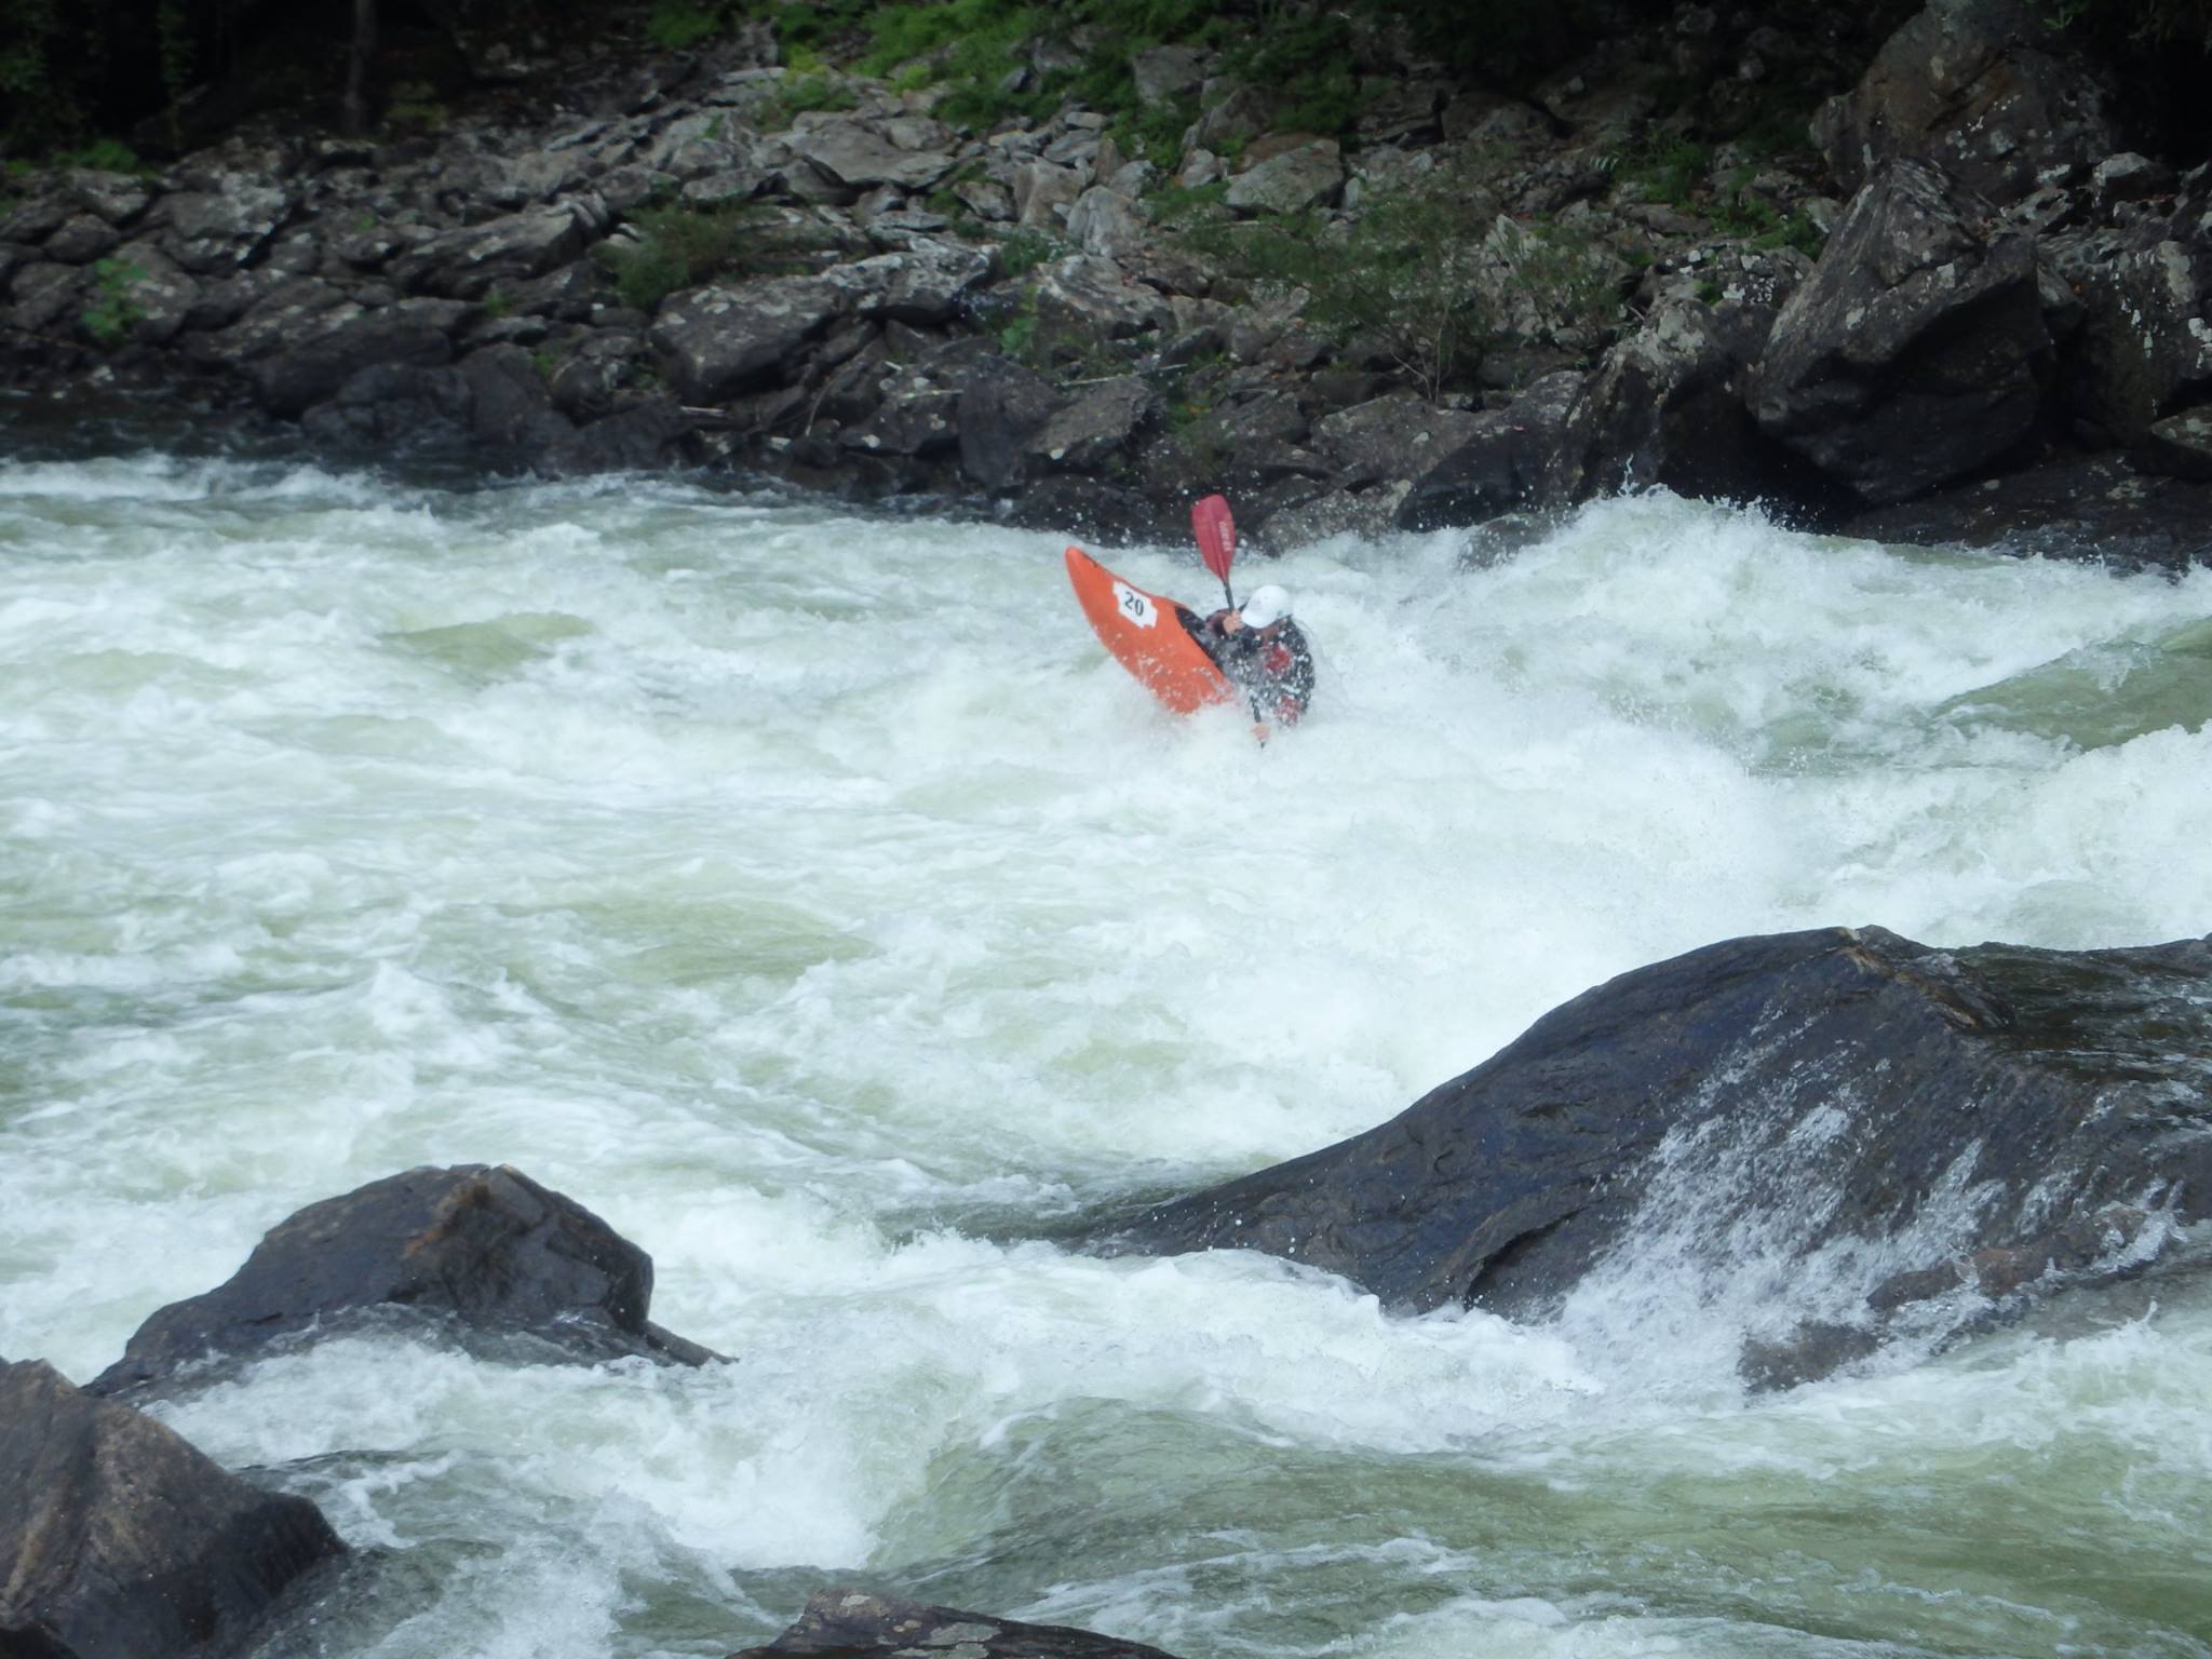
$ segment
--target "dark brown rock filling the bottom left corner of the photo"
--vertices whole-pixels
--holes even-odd
[[[223,1473],[170,1429],[35,1360],[0,1365],[0,1652],[226,1650],[345,1553],[305,1498]]]

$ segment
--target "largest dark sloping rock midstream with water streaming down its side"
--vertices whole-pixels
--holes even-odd
[[[2212,1214],[2212,940],[1933,951],[1882,929],[1743,938],[1555,1009],[1338,1146],[1095,1243],[1250,1248],[1405,1310],[1526,1316],[1659,1217],[1725,1274],[1759,1219],[1858,1248],[1874,1334],[1958,1287],[2119,1272]]]

